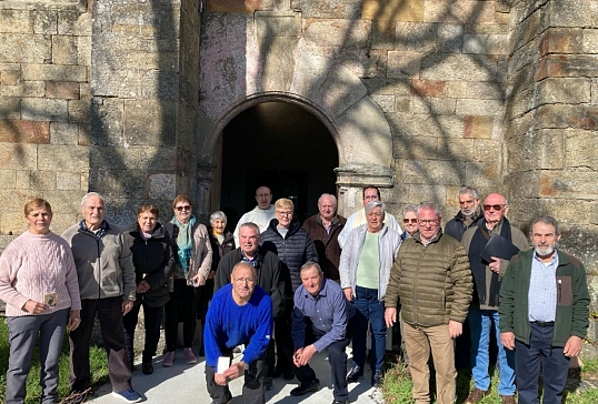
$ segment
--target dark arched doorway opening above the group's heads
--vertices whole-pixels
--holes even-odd
[[[295,202],[303,221],[318,211],[323,192],[337,193],[337,145],[325,124],[309,111],[287,102],[263,102],[237,117],[222,131],[220,206],[235,229],[256,206],[260,185]]]

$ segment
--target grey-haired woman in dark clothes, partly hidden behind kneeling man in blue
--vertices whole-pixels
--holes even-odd
[[[216,270],[220,263],[220,259],[236,249],[235,238],[232,233],[227,229],[227,215],[222,211],[216,211],[210,214],[210,228],[208,231],[210,236],[210,244],[212,245],[212,266],[206,285],[201,286],[202,291],[199,294],[199,303],[197,310],[197,317],[201,321],[201,331],[203,332],[203,325],[206,323],[206,313],[208,312],[208,304],[213,295],[213,279]],[[203,342],[199,349],[199,355],[203,356]]]

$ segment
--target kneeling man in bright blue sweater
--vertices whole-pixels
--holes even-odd
[[[243,374],[242,402],[266,403],[263,382],[266,349],[272,332],[272,301],[256,285],[256,279],[253,266],[239,262],[232,270],[231,283],[215,293],[208,309],[203,344],[206,382],[212,404],[232,400],[228,383]],[[241,344],[246,346],[241,361],[218,368],[219,357],[232,357],[232,350]]]

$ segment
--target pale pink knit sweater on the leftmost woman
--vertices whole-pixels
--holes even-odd
[[[24,232],[0,256],[0,299],[7,302],[7,316],[31,315],[22,309],[27,301],[43,303],[49,293],[56,293],[56,305],[43,314],[81,309],[71,249],[52,232]]]

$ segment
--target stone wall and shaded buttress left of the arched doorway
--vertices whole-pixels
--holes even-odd
[[[50,201],[53,229],[88,191],[129,226],[196,196],[200,1],[0,2],[0,234]],[[182,26],[182,28],[181,28]]]

